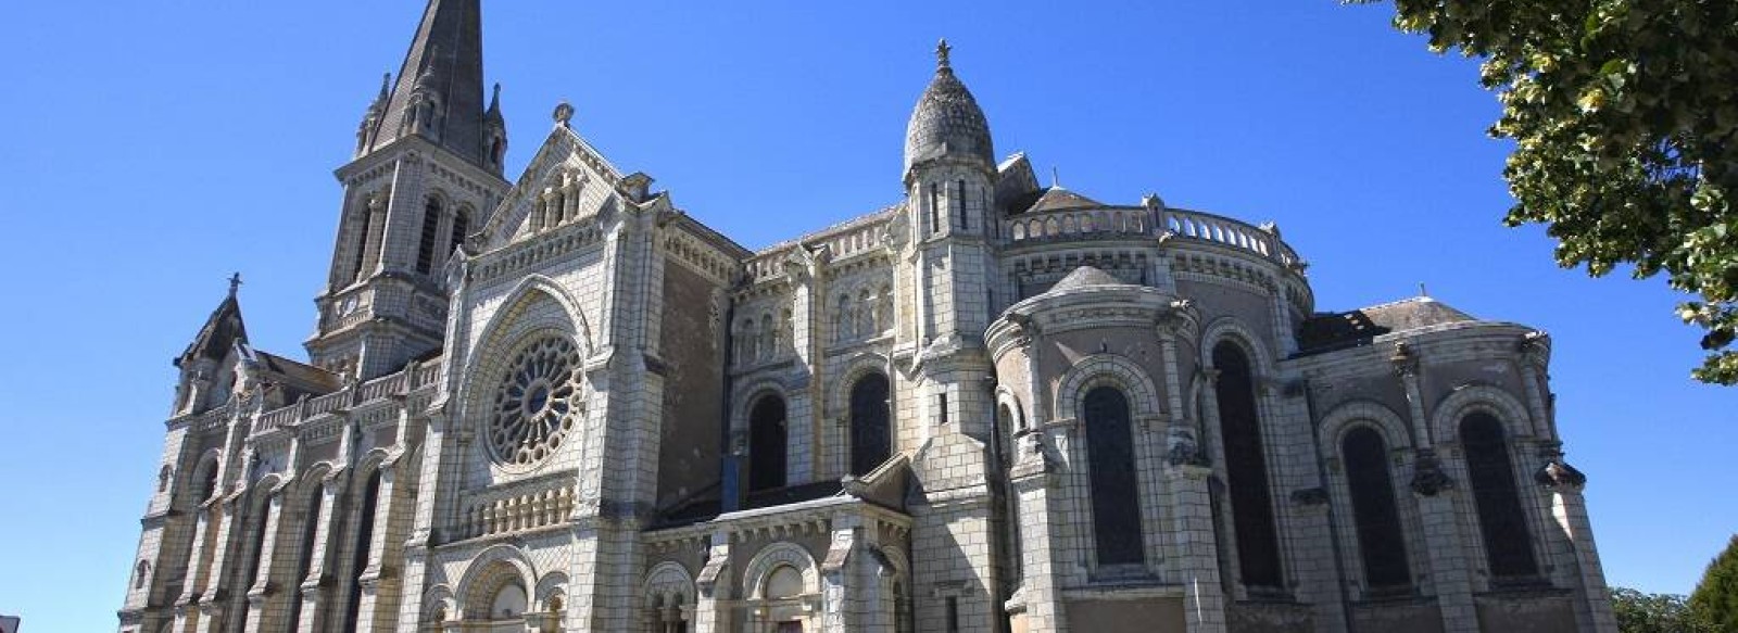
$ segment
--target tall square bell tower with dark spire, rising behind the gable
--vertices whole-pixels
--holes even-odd
[[[501,87],[483,103],[480,0],[429,0],[396,78],[356,129],[315,365],[353,379],[401,369],[441,346],[443,270],[506,195]]]

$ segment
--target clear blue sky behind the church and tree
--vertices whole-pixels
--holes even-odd
[[[240,270],[301,356],[339,186],[421,0],[26,2],[0,38],[0,614],[115,628],[177,355]],[[1277,221],[1317,310],[1416,294],[1549,330],[1611,583],[1686,593],[1738,529],[1738,390],[1695,384],[1663,282],[1557,270],[1509,230],[1476,68],[1335,2],[485,2],[509,170],[560,99],[678,205],[760,247],[899,198],[937,37],[998,153],[1098,200]]]

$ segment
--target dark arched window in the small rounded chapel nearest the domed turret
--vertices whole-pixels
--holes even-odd
[[[1140,494],[1135,482],[1135,438],[1128,396],[1112,386],[1086,391],[1086,463],[1091,464],[1091,527],[1098,565],[1145,560],[1140,537]]]

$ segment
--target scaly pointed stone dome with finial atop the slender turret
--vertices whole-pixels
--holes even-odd
[[[947,40],[935,47],[935,78],[918,99],[905,125],[905,172],[911,165],[944,155],[978,158],[994,165],[989,122],[972,90],[954,77],[947,63]]]

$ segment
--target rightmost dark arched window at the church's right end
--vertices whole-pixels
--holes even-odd
[[[1460,445],[1467,452],[1467,478],[1479,510],[1484,556],[1495,579],[1529,579],[1538,576],[1533,539],[1509,463],[1503,423],[1491,414],[1474,412],[1460,421]]]

